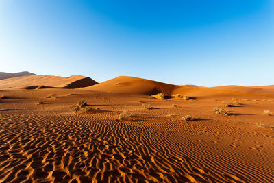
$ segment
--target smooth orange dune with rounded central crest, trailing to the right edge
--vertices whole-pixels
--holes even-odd
[[[269,87],[271,88],[271,87]],[[274,87],[273,87],[274,88]],[[98,90],[109,93],[121,93],[131,95],[153,95],[164,93],[173,95],[176,93],[184,95],[238,95],[240,93],[274,93],[274,90],[264,88],[251,88],[245,86],[219,86],[219,87],[202,87],[195,85],[179,86],[145,80],[138,77],[119,76],[93,86],[86,87],[87,90]]]

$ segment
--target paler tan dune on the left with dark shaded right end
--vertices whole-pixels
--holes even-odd
[[[97,82],[82,75],[72,75],[70,77],[28,75],[0,80],[0,88],[34,89],[40,85],[44,85],[46,88],[82,88],[93,84],[97,84]]]

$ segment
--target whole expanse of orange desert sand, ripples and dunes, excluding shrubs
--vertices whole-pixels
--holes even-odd
[[[82,88],[83,78],[0,80],[0,182],[274,182],[274,116],[263,113],[274,112],[270,86],[116,77]],[[29,87],[40,84],[49,88]],[[82,99],[100,109],[75,114]],[[130,115],[119,120],[123,110]]]

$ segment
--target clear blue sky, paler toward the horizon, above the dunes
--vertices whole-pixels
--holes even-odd
[[[274,1],[0,0],[0,71],[274,84]]]

